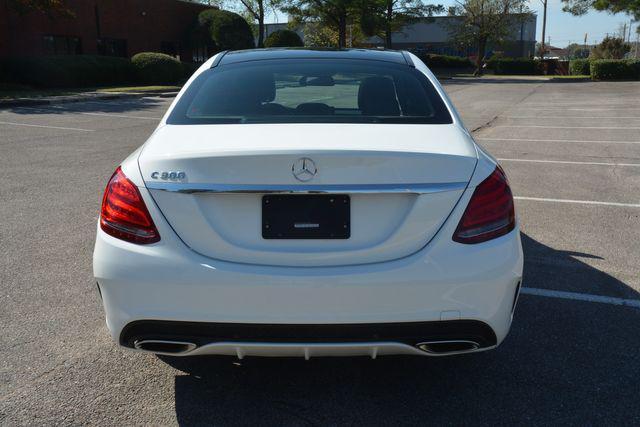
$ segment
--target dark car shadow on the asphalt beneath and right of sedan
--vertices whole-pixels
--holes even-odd
[[[570,269],[627,293],[571,253],[523,238],[527,256],[564,261],[552,274]],[[540,272],[529,266],[525,284],[541,286]],[[485,353],[161,360],[184,372],[175,377],[182,425],[632,425],[640,422],[638,330],[635,308],[523,295],[510,335]]]

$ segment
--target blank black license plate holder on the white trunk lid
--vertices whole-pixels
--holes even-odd
[[[351,199],[345,194],[262,196],[264,239],[348,239]]]

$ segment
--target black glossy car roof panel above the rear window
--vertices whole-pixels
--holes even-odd
[[[365,59],[413,65],[408,55],[397,50],[271,48],[223,52],[213,66],[269,59]]]

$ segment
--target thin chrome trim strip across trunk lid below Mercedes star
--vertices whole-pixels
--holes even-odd
[[[150,190],[175,193],[216,194],[431,194],[463,190],[466,182],[426,184],[327,184],[327,185],[256,185],[256,184],[192,184],[180,182],[146,182]]]

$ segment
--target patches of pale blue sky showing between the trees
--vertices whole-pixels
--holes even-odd
[[[429,1],[429,0],[426,0]],[[587,43],[593,44],[601,41],[608,34],[617,34],[619,28],[625,22],[629,26],[629,16],[625,14],[610,15],[606,12],[590,12],[584,16],[573,16],[562,11],[560,0],[548,0],[547,6],[547,39],[551,37],[553,46],[564,47],[569,43],[583,43],[584,35],[587,33]],[[445,7],[455,3],[454,0],[432,0],[433,3],[443,4]],[[542,37],[542,3],[540,0],[532,0],[529,7],[538,14],[538,32],[536,39],[540,41]],[[267,22],[286,22],[287,17],[282,14],[269,16]],[[635,40],[635,29],[637,23],[633,24],[631,40]],[[628,30],[627,30],[628,31]]]

